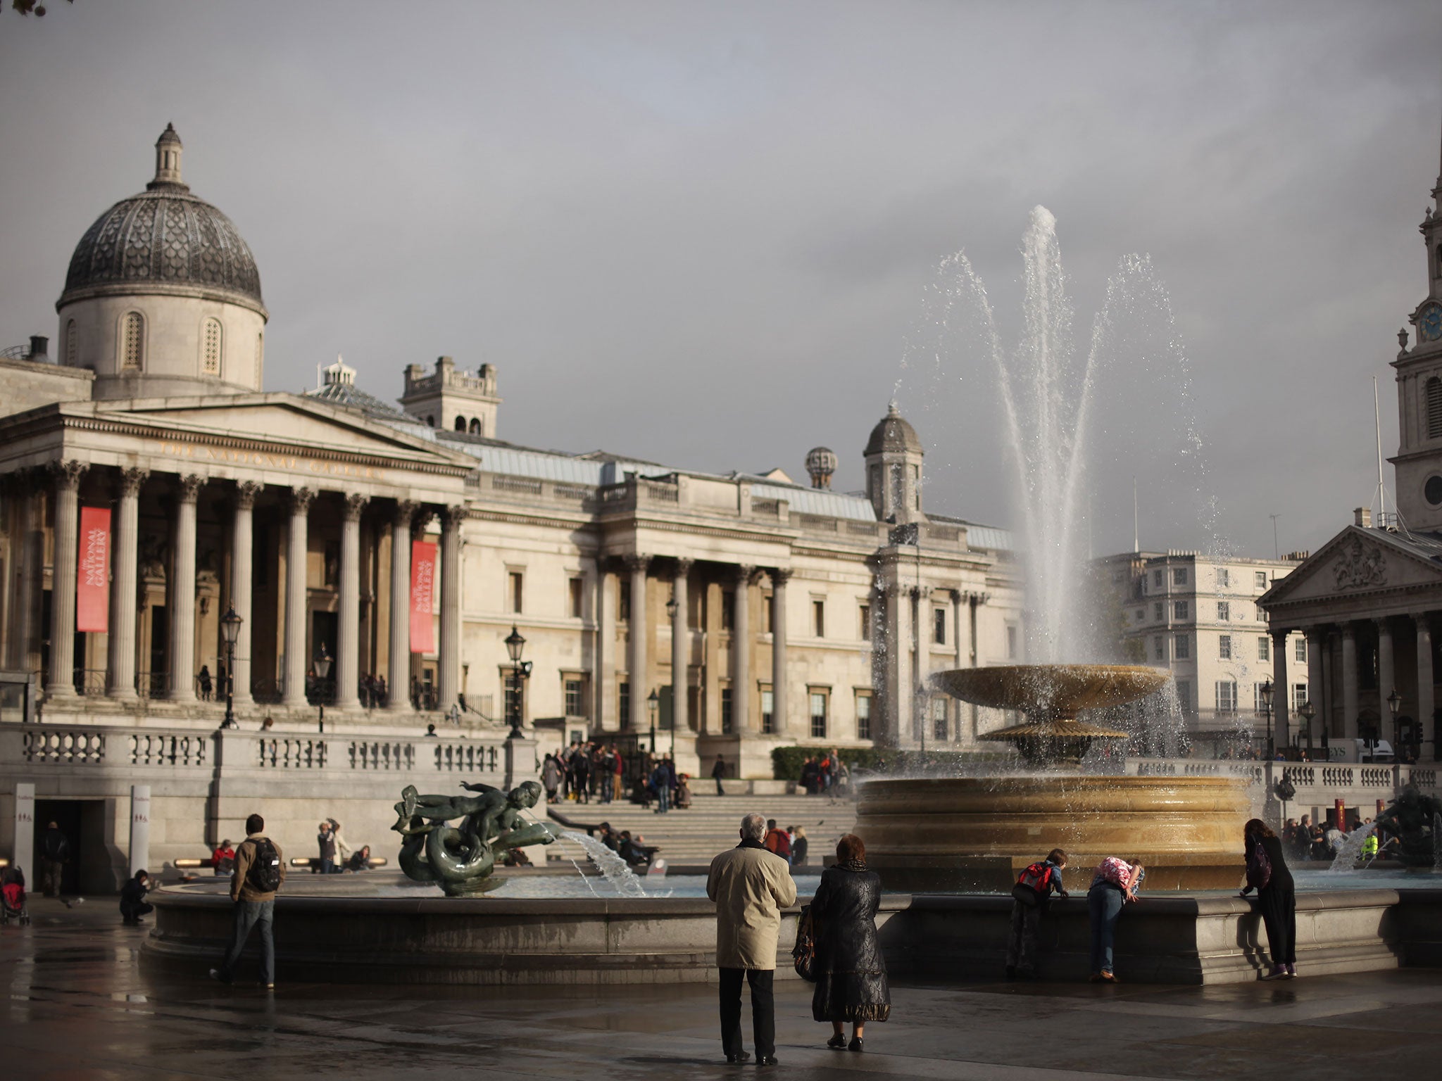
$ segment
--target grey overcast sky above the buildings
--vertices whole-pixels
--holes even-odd
[[[448,353],[499,366],[502,438],[797,480],[825,444],[839,489],[895,393],[927,506],[1009,525],[989,356],[903,359],[957,249],[1015,337],[1043,203],[1079,334],[1142,252],[1190,360],[1190,398],[1155,355],[1102,388],[1099,553],[1132,474],[1144,548],[1270,555],[1279,515],[1315,549],[1374,499],[1373,376],[1396,450],[1435,0],[49,7],[0,13],[4,343],[55,334],[71,249],[173,121],[260,264],[267,389],[343,353],[394,398]],[[1200,487],[1156,434],[1191,424]]]

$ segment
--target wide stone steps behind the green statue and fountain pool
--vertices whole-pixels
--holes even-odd
[[[721,850],[734,848],[741,829],[741,817],[750,811],[776,819],[777,826],[805,826],[810,842],[806,863],[820,869],[833,862],[836,840],[857,824],[857,804],[825,796],[692,796],[689,810],[656,814],[634,803],[575,803],[558,800],[551,804],[571,822],[609,822],[614,830],[640,835],[647,845],[660,845],[660,856],[672,868],[707,866]],[[571,855],[575,855],[572,850]],[[565,859],[549,850],[549,860]]]

